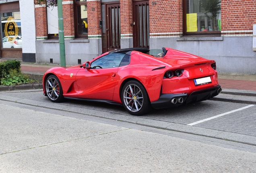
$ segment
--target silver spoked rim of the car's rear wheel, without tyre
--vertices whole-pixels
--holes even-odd
[[[143,105],[143,94],[136,84],[129,84],[123,93],[124,104],[132,112],[138,112]]]

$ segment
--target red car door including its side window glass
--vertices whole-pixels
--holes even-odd
[[[124,54],[113,53],[91,62],[91,68],[81,68],[76,74],[78,98],[112,100],[118,66]]]

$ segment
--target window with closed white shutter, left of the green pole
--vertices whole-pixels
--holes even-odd
[[[47,6],[47,32],[48,40],[58,40],[58,7]]]

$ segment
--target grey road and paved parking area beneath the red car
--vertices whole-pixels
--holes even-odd
[[[0,93],[0,119],[3,173],[256,172],[256,105],[203,101],[136,117],[11,91]]]

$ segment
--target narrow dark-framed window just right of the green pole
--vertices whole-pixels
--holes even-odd
[[[75,37],[88,38],[87,2],[86,0],[75,0]]]

